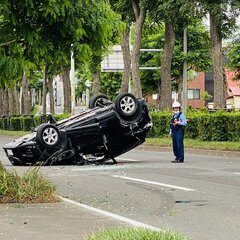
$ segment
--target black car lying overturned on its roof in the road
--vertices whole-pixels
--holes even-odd
[[[99,94],[88,110],[43,123],[3,148],[12,165],[117,163],[116,156],[145,141],[151,126],[144,99],[122,93],[112,102]]]

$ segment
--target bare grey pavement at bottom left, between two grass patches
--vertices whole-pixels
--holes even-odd
[[[0,204],[1,240],[83,240],[101,229],[124,224],[64,201],[53,204]]]

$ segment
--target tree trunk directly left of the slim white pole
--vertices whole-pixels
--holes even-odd
[[[63,80],[63,95],[64,95],[64,113],[71,113],[71,81],[70,69],[64,69],[61,74]]]

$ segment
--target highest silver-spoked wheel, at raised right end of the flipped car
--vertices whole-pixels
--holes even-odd
[[[121,117],[132,117],[137,112],[139,103],[131,93],[119,94],[115,100],[115,107]]]

